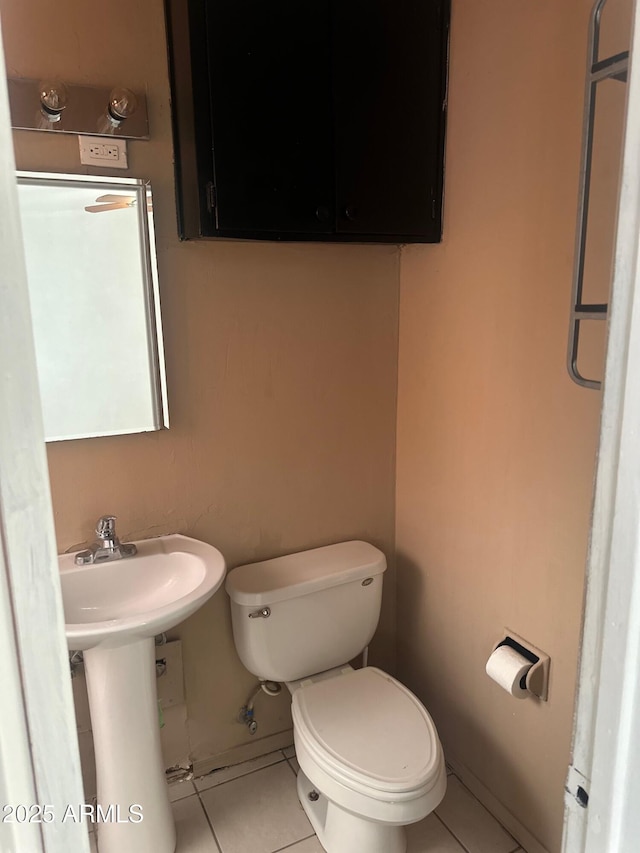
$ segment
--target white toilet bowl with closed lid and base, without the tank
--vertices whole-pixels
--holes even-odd
[[[320,843],[330,853],[404,853],[405,826],[430,814],[446,789],[426,709],[374,667],[298,684],[298,796]]]

